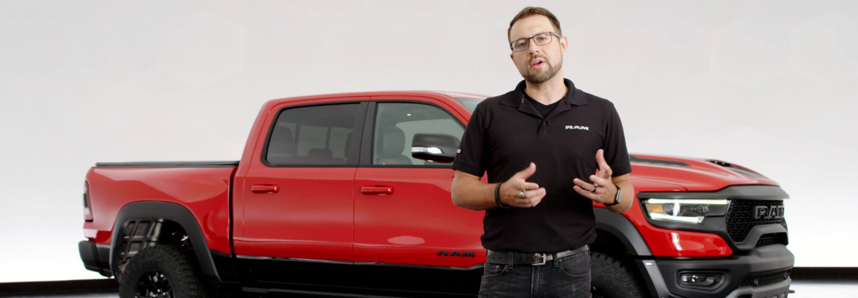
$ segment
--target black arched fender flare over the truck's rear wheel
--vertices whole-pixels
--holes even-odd
[[[202,236],[202,230],[196,222],[196,217],[190,213],[190,210],[180,204],[159,201],[134,202],[124,205],[122,209],[119,210],[116,216],[116,222],[113,223],[110,246],[110,270],[114,277],[118,270],[118,265],[113,264],[113,260],[116,257],[116,255],[114,255],[114,247],[117,246],[117,237],[120,233],[120,229],[125,222],[147,217],[163,218],[165,220],[177,222],[182,226],[184,231],[188,233],[190,244],[194,247],[196,260],[200,264],[202,274],[209,280],[221,281],[221,277],[215,269],[215,260],[212,258],[211,252],[208,250],[206,239]]]

